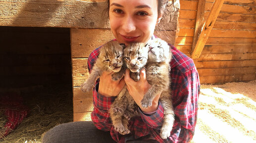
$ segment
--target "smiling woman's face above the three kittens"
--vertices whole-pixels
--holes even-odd
[[[147,42],[158,19],[157,0],[110,0],[111,31],[119,43]]]

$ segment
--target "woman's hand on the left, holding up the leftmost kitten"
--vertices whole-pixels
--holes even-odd
[[[120,80],[112,81],[112,73],[103,72],[100,76],[98,93],[106,97],[117,96],[126,84],[124,77]]]

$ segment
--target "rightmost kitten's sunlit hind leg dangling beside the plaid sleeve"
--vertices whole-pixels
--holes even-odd
[[[162,103],[162,106],[164,108],[164,121],[160,132],[160,136],[162,139],[167,139],[168,137],[170,137],[175,116],[170,94],[168,95],[160,98],[160,102]]]

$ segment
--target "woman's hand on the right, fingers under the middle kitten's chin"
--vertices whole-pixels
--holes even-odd
[[[135,82],[130,78],[129,74],[130,70],[127,69],[125,73],[125,81],[127,84],[127,89],[129,91],[129,94],[134,99],[135,103],[140,107],[140,109],[145,113],[151,113],[157,110],[158,108],[158,101],[161,93],[159,93],[155,99],[153,100],[152,106],[148,108],[143,108],[141,106],[141,100],[143,99],[144,95],[147,93],[148,89],[151,87],[151,85],[147,82],[146,78],[146,71],[145,69],[140,70],[139,73],[139,81]]]

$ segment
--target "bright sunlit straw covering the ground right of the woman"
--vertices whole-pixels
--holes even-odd
[[[201,85],[192,143],[255,143],[256,80]]]

